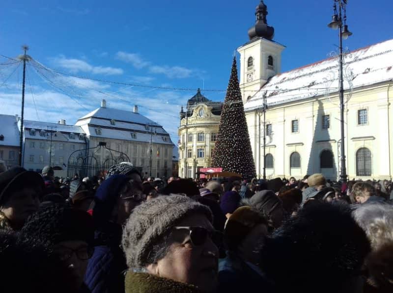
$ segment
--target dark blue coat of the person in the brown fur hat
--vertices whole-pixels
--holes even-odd
[[[233,253],[220,262],[218,293],[273,292],[262,271],[252,268]]]

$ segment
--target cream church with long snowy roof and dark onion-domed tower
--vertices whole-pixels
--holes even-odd
[[[258,177],[265,164],[267,178],[322,172],[336,180],[341,156],[338,56],[281,73],[284,46],[273,40],[263,1],[255,15],[249,42],[238,52]],[[346,52],[344,62],[348,179],[392,179],[393,40]]]

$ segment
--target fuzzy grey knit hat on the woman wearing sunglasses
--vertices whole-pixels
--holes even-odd
[[[148,256],[176,222],[193,214],[213,221],[207,206],[184,195],[158,196],[137,206],[123,228],[122,247],[129,268],[141,269],[149,264]]]

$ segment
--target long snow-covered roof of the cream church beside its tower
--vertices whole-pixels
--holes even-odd
[[[344,90],[393,79],[393,40],[347,53],[344,58]],[[273,76],[244,105],[245,111],[338,92],[338,56]]]

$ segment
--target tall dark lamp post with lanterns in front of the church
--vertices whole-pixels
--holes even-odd
[[[338,49],[339,49],[339,68],[338,68],[338,93],[340,98],[340,129],[341,129],[341,170],[340,170],[340,180],[341,182],[347,182],[347,170],[345,164],[345,144],[344,144],[344,80],[342,74],[342,39],[348,39],[352,33],[348,30],[348,25],[346,24],[346,4],[347,0],[334,0],[334,15],[332,17],[332,22],[328,24],[328,27],[337,29],[338,28]],[[337,9],[338,7],[338,9]]]

